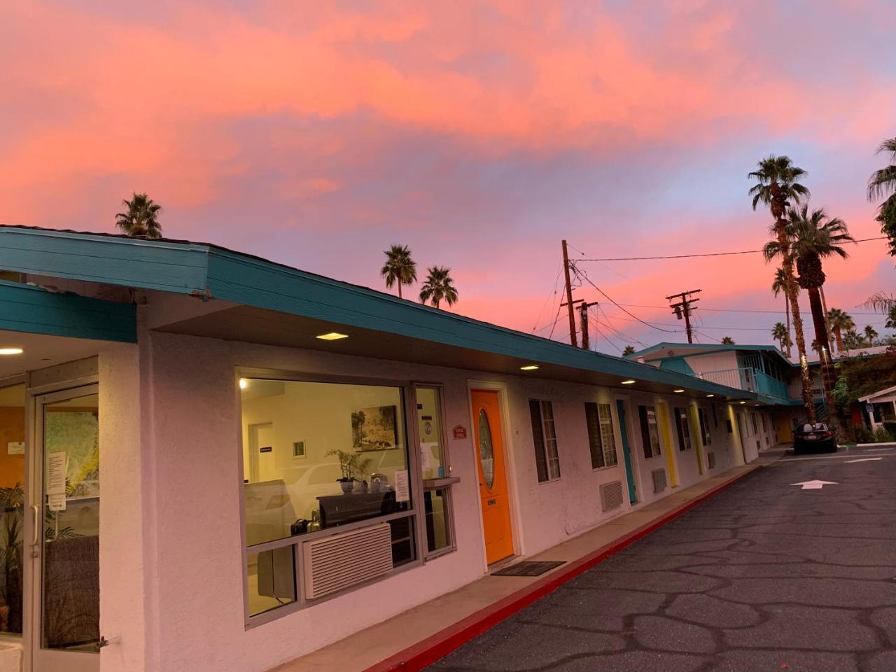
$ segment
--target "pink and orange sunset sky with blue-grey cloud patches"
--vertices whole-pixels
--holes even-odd
[[[561,239],[573,259],[759,249],[746,175],[770,153],[880,236],[894,34],[892,0],[3,3],[0,222],[110,232],[145,192],[168,237],[383,290],[407,245],[418,275],[452,269],[452,311],[566,340]],[[857,306],[893,260],[849,252],[828,306],[884,333]],[[702,342],[783,320],[760,254],[576,267],[610,354],[685,340],[664,306],[689,289]]]

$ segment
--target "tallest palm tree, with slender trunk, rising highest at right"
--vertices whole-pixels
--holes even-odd
[[[768,206],[771,219],[774,220],[772,231],[778,237],[781,264],[784,274],[784,293],[790,302],[793,314],[793,331],[797,340],[797,354],[800,361],[800,378],[803,385],[803,404],[809,422],[815,421],[815,405],[812,401],[812,379],[809,376],[809,364],[806,361],[806,338],[803,335],[803,318],[799,314],[797,280],[793,274],[793,255],[790,253],[787,231],[788,206],[796,204],[809,195],[806,186],[798,180],[806,177],[803,168],[797,168],[786,156],[776,157],[774,154],[762,159],[747,177],[755,179],[756,184],[750,188],[753,196],[753,209],[759,203]]]

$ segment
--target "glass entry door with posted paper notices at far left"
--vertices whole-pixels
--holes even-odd
[[[31,672],[99,670],[98,401],[89,385],[35,403]]]

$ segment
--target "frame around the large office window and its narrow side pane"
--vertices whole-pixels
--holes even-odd
[[[262,544],[255,544],[252,547],[246,546],[246,488],[245,481],[246,474],[243,469],[243,415],[242,415],[242,396],[240,393],[239,387],[239,379],[240,378],[252,378],[258,380],[272,380],[272,381],[283,381],[283,382],[296,382],[296,383],[332,383],[332,384],[345,384],[345,385],[372,385],[375,387],[394,387],[400,391],[401,396],[401,404],[402,404],[402,418],[404,418],[404,435],[405,442],[407,445],[407,457],[408,457],[408,472],[409,472],[409,485],[410,485],[410,503],[408,507],[408,511],[400,511],[396,513],[388,513],[383,516],[377,516],[375,518],[366,519],[364,521],[355,521],[349,522],[344,525],[339,525],[333,528],[328,528],[325,530],[315,530],[314,532],[307,532],[306,534],[301,535],[292,535],[289,537],[272,539],[271,541],[266,541]],[[241,546],[241,557],[242,557],[242,590],[243,590],[243,619],[244,626],[246,630],[251,630],[254,627],[258,627],[259,625],[264,625],[267,623],[271,623],[271,621],[278,620],[284,616],[289,616],[289,614],[294,614],[297,611],[301,611],[303,609],[307,609],[310,607],[314,607],[318,604],[323,604],[323,602],[329,601],[331,599],[339,598],[342,595],[353,592],[355,590],[361,590],[368,585],[386,581],[391,579],[393,576],[397,574],[408,572],[426,563],[427,559],[435,556],[444,555],[443,553],[433,554],[432,556],[426,556],[426,521],[422,519],[425,517],[426,512],[422,505],[423,503],[423,478],[422,478],[422,470],[420,467],[420,455],[419,455],[419,438],[418,438],[418,430],[416,422],[409,422],[408,409],[413,409],[415,414],[417,410],[417,397],[414,393],[415,385],[421,387],[441,387],[441,383],[424,383],[424,382],[415,382],[409,380],[399,380],[394,378],[375,378],[375,377],[366,377],[366,376],[353,376],[353,375],[321,375],[321,374],[313,374],[313,373],[303,373],[295,370],[284,370],[284,369],[273,369],[273,368],[263,368],[263,367],[255,367],[255,366],[237,366],[236,372],[234,376],[234,399],[236,401],[236,433],[237,433],[237,487],[239,488],[239,528],[240,528],[240,546]],[[443,433],[445,432],[444,426],[444,402],[442,396],[439,398],[440,406],[442,407],[440,412],[442,414],[443,419]],[[416,416],[415,416],[416,418]],[[412,443],[413,442],[413,443]],[[411,445],[417,446],[417,450],[411,450]],[[447,441],[445,441],[445,445],[447,446]],[[454,482],[460,480],[457,478],[448,479],[451,480],[452,483],[446,484],[445,487],[450,487]],[[450,530],[452,531],[452,543],[453,543],[453,509],[449,508],[449,513],[452,516],[452,521],[450,523]],[[383,574],[382,576],[377,576],[373,579],[370,579],[366,582],[361,582],[353,586],[349,586],[343,590],[338,590],[333,592],[330,595],[327,595],[323,598],[309,600],[305,598],[306,587],[305,587],[305,573],[302,571],[303,566],[301,564],[302,559],[302,544],[306,541],[312,541],[318,538],[326,538],[331,537],[335,534],[341,534],[342,532],[348,532],[350,530],[359,530],[361,528],[369,527],[370,525],[379,524],[383,522],[389,522],[392,520],[398,520],[401,518],[413,518],[411,521],[411,529],[414,530],[414,550],[415,557],[413,560],[401,564],[398,567],[392,569],[392,572]],[[250,555],[258,554],[267,550],[274,550],[280,547],[294,547],[293,549],[293,562],[294,562],[294,572],[296,577],[296,600],[294,602],[290,602],[285,605],[281,605],[280,607],[273,607],[267,611],[262,612],[261,614],[250,615],[249,613],[249,585],[248,585],[248,559]],[[448,550],[439,549],[440,551],[444,551],[444,553],[450,553],[456,548],[446,547]]]

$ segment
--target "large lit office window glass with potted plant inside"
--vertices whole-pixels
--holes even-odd
[[[348,554],[345,563],[359,566],[374,554],[389,565],[377,565],[383,573],[415,560],[404,388],[243,380],[248,616],[310,599],[300,594],[298,573],[323,595],[306,558],[340,528],[361,530],[385,519],[390,529],[364,537],[375,548],[327,551]]]

